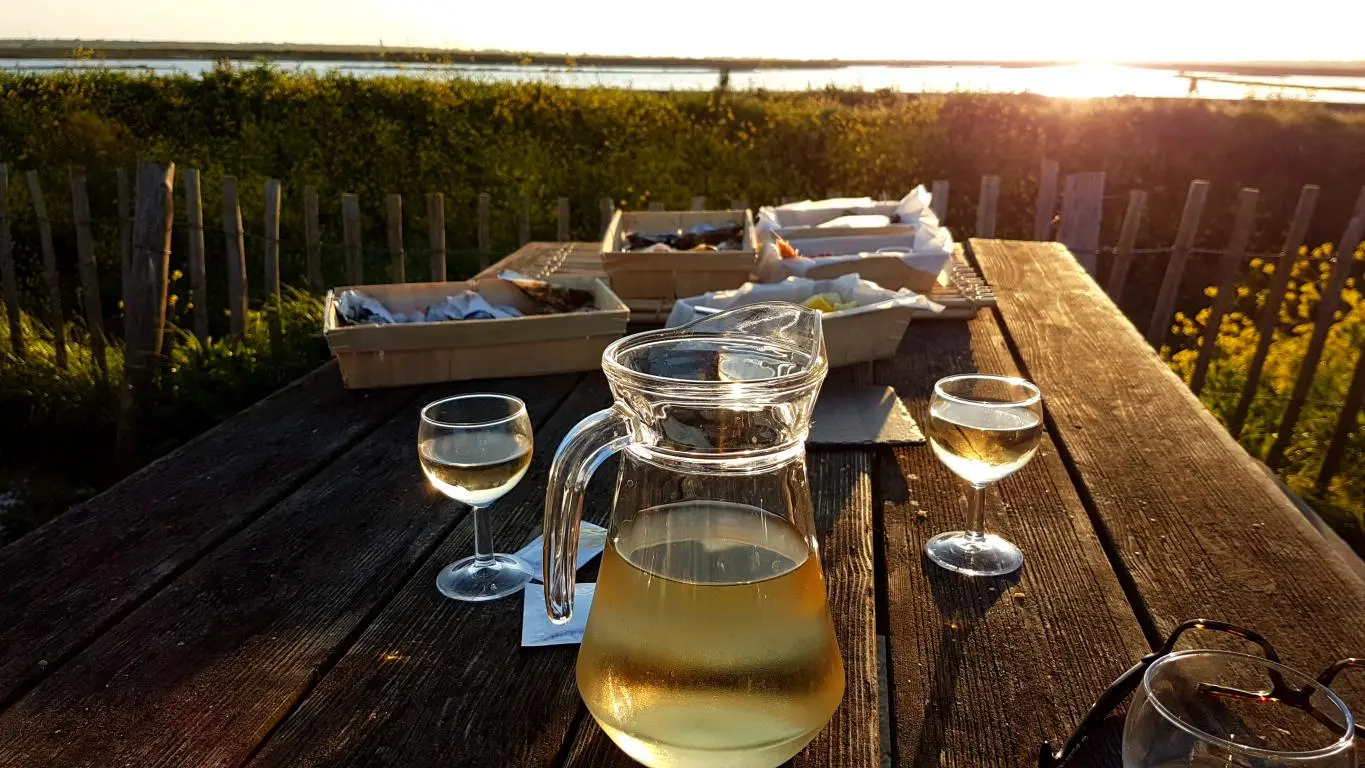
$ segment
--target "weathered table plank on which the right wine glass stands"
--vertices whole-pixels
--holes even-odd
[[[1017,374],[999,326],[912,323],[874,381],[895,386],[927,423],[934,382],[960,372]],[[1048,396],[1043,389],[1044,402]],[[885,452],[876,468],[885,532],[889,678],[897,765],[1032,765],[1095,697],[1147,652],[1087,510],[1044,435],[1033,461],[990,491],[987,529],[1024,551],[1005,578],[965,578],[923,557],[966,518],[964,483],[927,447]],[[1080,765],[1119,764],[1122,718]]]

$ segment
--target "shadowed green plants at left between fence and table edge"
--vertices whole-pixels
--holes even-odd
[[[206,428],[311,371],[328,359],[321,337],[322,304],[287,289],[278,351],[265,316],[251,312],[240,340],[210,340],[173,327],[167,364],[139,424],[139,458],[161,456]],[[68,366],[56,366],[51,334],[23,316],[23,360],[0,352],[0,542],[23,535],[116,482],[130,469],[115,452],[117,383],[123,349],[109,349],[108,382],[94,364],[81,330],[68,327]],[[8,338],[0,314],[0,338]],[[4,495],[4,494],[0,494]]]

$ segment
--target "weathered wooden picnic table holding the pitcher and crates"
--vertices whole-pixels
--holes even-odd
[[[946,374],[1039,383],[1043,447],[987,517],[1024,567],[927,563],[925,539],[964,517],[927,447],[812,450],[848,688],[793,763],[878,765],[880,713],[895,765],[1032,765],[1192,617],[1256,627],[1314,674],[1365,652],[1365,581],[1072,255],[969,255],[998,310],[912,323],[871,378],[920,419]],[[348,393],[328,366],[0,550],[0,765],[629,765],[584,715],[576,648],[521,649],[519,597],[434,588],[472,528],[422,479],[418,408],[475,390],[520,396],[536,426],[493,513],[500,548],[520,547],[560,438],[609,402],[598,372]],[[598,475],[586,514],[606,522]],[[1076,764],[1119,765],[1121,727]]]

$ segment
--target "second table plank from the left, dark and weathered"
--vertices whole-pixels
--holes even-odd
[[[543,424],[577,379],[441,392],[521,394]],[[244,763],[467,517],[423,480],[415,431],[411,404],[14,704],[0,764]]]

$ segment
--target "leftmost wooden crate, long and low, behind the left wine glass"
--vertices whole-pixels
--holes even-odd
[[[591,371],[602,351],[625,334],[629,310],[602,280],[549,277],[546,282],[591,291],[598,308],[590,312],[532,315],[490,321],[430,323],[339,323],[336,296],[328,292],[322,333],[341,367],[347,389],[423,385],[502,376],[534,376]],[[465,282],[359,285],[389,310],[411,312],[464,289]]]

